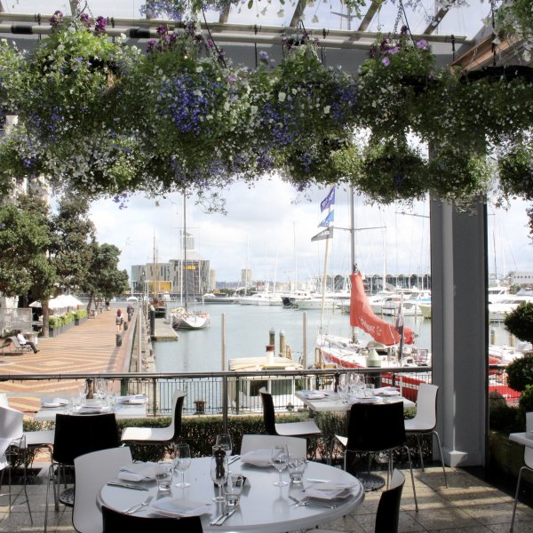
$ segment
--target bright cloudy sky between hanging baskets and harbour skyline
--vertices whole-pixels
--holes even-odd
[[[255,187],[235,184],[225,192],[227,214],[207,214],[187,201],[187,232],[195,250],[211,262],[217,281],[237,282],[249,267],[254,280],[294,280],[322,275],[325,241],[311,242],[321,231],[327,211],[320,202],[329,189],[314,188],[306,195],[281,179],[265,179]],[[349,227],[348,193],[338,188],[335,227]],[[489,209],[489,272],[533,270],[526,204],[509,211]],[[426,273],[429,256],[429,203],[405,206],[369,206],[355,199],[355,258],[363,273]],[[113,243],[122,251],[121,268],[179,259],[179,232],[183,227],[183,199],[131,198],[125,209],[106,200],[93,203],[91,219],[99,243]],[[406,214],[403,214],[406,213]],[[373,228],[373,229],[367,229]],[[154,249],[156,250],[154,254]],[[494,252],[496,250],[496,253]],[[350,244],[346,230],[335,229],[330,241],[328,273],[350,272]]]

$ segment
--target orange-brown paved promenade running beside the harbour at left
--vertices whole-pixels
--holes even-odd
[[[12,381],[20,374],[97,374],[127,372],[139,310],[135,310],[130,327],[122,332],[122,346],[116,346],[115,310],[110,309],[57,337],[39,338],[38,354],[0,355],[0,392],[8,396],[14,409],[35,413],[43,397],[66,397],[77,392],[75,379]]]

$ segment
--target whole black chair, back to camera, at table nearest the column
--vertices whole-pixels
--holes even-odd
[[[348,436],[335,435],[345,447],[344,468],[346,470],[346,454],[348,452],[369,454],[386,453],[388,457],[387,480],[393,473],[393,451],[405,449],[410,466],[410,476],[415,498],[415,510],[418,512],[417,491],[410,458],[410,450],[407,446],[405,425],[403,420],[403,402],[391,403],[354,403],[350,409],[348,422]],[[361,481],[365,489],[376,489],[371,481],[365,483],[365,474],[354,474]],[[383,485],[383,482],[381,483]]]

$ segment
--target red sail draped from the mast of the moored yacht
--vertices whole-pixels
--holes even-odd
[[[381,320],[372,311],[362,286],[361,273],[351,274],[350,279],[352,281],[350,325],[354,328],[361,328],[369,333],[374,340],[386,346],[399,343],[400,333],[395,329],[394,324]],[[406,344],[412,343],[412,330],[404,328],[404,338]]]

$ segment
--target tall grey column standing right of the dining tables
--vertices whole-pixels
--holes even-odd
[[[484,465],[488,405],[487,216],[431,202],[432,354],[445,461]]]

